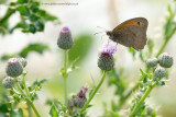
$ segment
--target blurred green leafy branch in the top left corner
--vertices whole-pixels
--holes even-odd
[[[13,27],[9,27],[9,19],[19,12],[20,22]],[[47,21],[59,23],[58,19],[40,8],[40,2],[35,0],[16,0],[11,2],[3,17],[0,19],[0,34],[13,33],[21,28],[23,33],[43,32]]]

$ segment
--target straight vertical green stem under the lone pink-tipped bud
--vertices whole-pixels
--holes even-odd
[[[68,61],[68,52],[65,50],[64,52],[64,100],[65,100],[65,105],[67,105],[67,61]]]

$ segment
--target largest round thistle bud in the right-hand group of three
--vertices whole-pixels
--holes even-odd
[[[170,68],[173,66],[173,57],[167,52],[163,52],[158,56],[158,62],[161,67]]]

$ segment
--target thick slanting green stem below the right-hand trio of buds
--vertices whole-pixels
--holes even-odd
[[[135,105],[135,107],[133,108],[133,110],[130,114],[130,117],[134,117],[135,113],[139,110],[139,108],[141,107],[141,104],[145,101],[145,98],[148,96],[148,94],[151,93],[151,91],[153,90],[153,87],[156,85],[156,82],[153,85],[148,85],[144,95],[141,97],[140,102]]]

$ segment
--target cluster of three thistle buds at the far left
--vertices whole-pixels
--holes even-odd
[[[24,58],[10,58],[6,68],[6,77],[2,81],[2,85],[6,89],[14,86],[14,78],[23,73],[23,68],[26,66]]]

